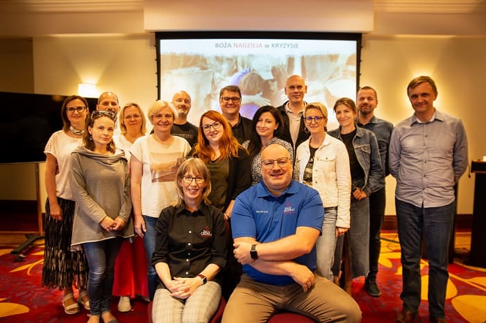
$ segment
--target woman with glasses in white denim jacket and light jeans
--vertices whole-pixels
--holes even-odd
[[[328,110],[319,102],[305,105],[305,129],[310,138],[296,152],[295,176],[299,182],[319,192],[324,204],[322,234],[316,242],[317,273],[333,281],[330,268],[338,236],[349,229],[351,173],[346,146],[326,135]]]

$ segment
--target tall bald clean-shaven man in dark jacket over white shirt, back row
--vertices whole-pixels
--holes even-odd
[[[295,151],[310,136],[309,132],[305,132],[303,121],[303,108],[307,104],[303,98],[307,93],[307,85],[301,76],[292,75],[287,78],[284,90],[289,100],[278,107],[283,119],[280,139],[292,143]]]

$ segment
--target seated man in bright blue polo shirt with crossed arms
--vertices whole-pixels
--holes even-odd
[[[242,279],[223,323],[266,322],[280,309],[317,322],[360,322],[344,290],[314,274],[324,207],[319,193],[292,180],[292,159],[278,143],[262,150],[262,181],[235,200],[231,228]]]

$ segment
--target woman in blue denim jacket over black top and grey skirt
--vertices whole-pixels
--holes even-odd
[[[351,226],[344,237],[337,240],[333,274],[339,277],[344,240],[344,289],[351,294],[355,277],[366,277],[369,272],[369,194],[383,177],[378,142],[373,132],[355,125],[356,105],[351,98],[340,98],[334,105],[340,127],[328,132],[344,142],[349,154],[351,170]],[[349,257],[349,261],[346,258]],[[349,269],[347,265],[350,265]],[[346,270],[347,269],[347,270]]]

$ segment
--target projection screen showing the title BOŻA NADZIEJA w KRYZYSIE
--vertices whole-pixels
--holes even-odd
[[[337,127],[336,99],[355,98],[359,34],[194,32],[156,33],[156,38],[159,98],[171,101],[176,91],[187,91],[188,120],[196,125],[203,112],[220,111],[219,90],[226,85],[240,87],[240,113],[251,119],[262,105],[285,103],[285,80],[303,76],[305,101],[328,107],[331,128]]]

